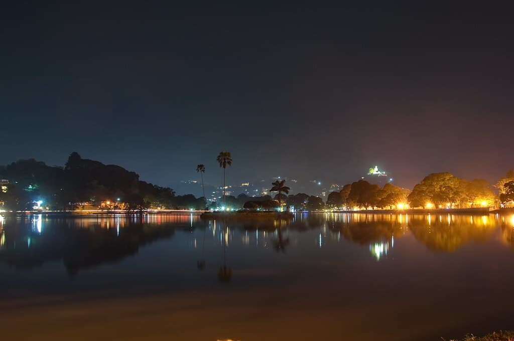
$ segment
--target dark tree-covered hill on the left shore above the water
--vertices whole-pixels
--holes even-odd
[[[140,207],[176,207],[175,193],[139,180],[139,175],[117,165],[104,165],[82,159],[71,153],[65,167],[48,166],[34,159],[13,162],[1,170],[9,180],[7,193],[2,193],[7,209],[25,210],[32,201],[43,201],[50,209],[67,209],[77,202],[93,202],[120,198],[131,210]],[[137,195],[137,198],[136,198]]]

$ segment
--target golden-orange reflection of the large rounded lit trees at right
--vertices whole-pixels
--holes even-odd
[[[409,229],[427,248],[455,251],[467,242],[483,242],[491,237],[494,223],[489,217],[434,216],[409,219]]]

